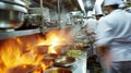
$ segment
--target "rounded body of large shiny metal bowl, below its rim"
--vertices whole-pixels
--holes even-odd
[[[24,13],[19,11],[0,10],[0,28],[17,28],[24,22]]]

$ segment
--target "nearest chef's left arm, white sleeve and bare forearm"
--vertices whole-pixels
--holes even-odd
[[[111,37],[112,27],[103,19],[98,21],[96,28],[96,47],[102,54],[105,54],[109,50],[109,45],[112,40]]]

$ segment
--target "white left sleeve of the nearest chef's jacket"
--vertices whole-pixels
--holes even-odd
[[[96,46],[108,46],[111,42],[111,29],[112,26],[108,21],[105,19],[98,21],[96,28]]]

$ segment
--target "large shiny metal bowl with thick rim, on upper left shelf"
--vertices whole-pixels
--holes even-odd
[[[21,0],[0,1],[0,29],[12,29],[22,26],[26,5]]]

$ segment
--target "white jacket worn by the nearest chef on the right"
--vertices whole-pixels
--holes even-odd
[[[112,61],[131,61],[131,13],[120,9],[98,21],[96,45],[107,45]]]

